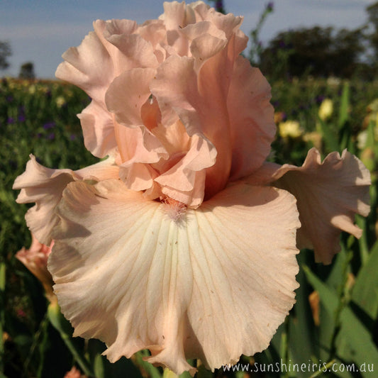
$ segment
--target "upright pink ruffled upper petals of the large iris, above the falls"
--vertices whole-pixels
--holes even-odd
[[[85,145],[99,157],[116,149],[128,189],[197,207],[262,165],[275,133],[270,87],[239,55],[242,21],[165,3],[141,26],[95,21],[65,52],[57,77],[92,99],[79,114]]]

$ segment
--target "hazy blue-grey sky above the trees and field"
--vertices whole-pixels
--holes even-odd
[[[190,2],[190,1],[187,1]],[[226,10],[244,16],[242,30],[254,28],[267,0],[224,0]],[[261,32],[264,43],[279,31],[300,26],[357,28],[365,23],[366,6],[374,0],[276,0]],[[129,18],[138,23],[157,18],[159,0],[1,0],[0,40],[9,40],[13,54],[9,70],[17,76],[23,62],[33,62],[38,77],[53,78],[61,55],[81,43],[98,18]]]

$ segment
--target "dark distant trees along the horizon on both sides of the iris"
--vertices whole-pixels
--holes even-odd
[[[218,11],[226,13],[223,1],[212,1]],[[273,11],[269,2],[260,22],[250,37],[252,49],[249,58],[252,65],[272,79],[284,77],[378,77],[378,1],[367,6],[367,21],[355,30],[335,30],[332,27],[297,28],[278,33],[263,48],[258,32],[267,15]],[[0,70],[9,67],[11,45],[0,41]],[[21,66],[20,77],[34,76],[33,63]]]

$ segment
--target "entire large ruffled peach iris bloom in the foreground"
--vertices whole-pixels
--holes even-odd
[[[294,304],[299,245],[330,262],[357,237],[369,172],[348,152],[302,167],[265,162],[276,131],[270,87],[240,55],[243,21],[197,1],[157,20],[95,21],[57,77],[91,97],[79,114],[98,165],[31,157],[18,202],[55,240],[48,268],[74,335],[109,360],[148,348],[177,374],[264,350]],[[295,196],[295,197],[294,197]]]

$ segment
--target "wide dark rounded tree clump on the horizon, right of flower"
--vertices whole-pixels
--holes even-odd
[[[362,29],[335,33],[315,26],[282,32],[262,51],[260,69],[273,77],[350,77],[365,50],[362,38]]]

